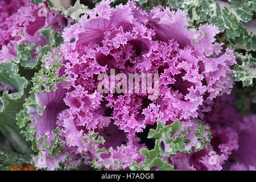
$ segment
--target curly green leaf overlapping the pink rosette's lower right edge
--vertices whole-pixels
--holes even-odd
[[[167,126],[158,121],[156,129],[150,129],[148,133],[148,138],[156,139],[154,149],[142,148],[141,154],[145,157],[142,162],[143,167],[134,162],[131,169],[148,171],[152,167],[157,167],[158,170],[174,170],[174,167],[166,162],[170,155],[175,155],[177,152],[192,152],[193,147],[195,147],[195,152],[209,147],[211,138],[209,126],[199,121],[192,122],[197,126],[195,130],[185,127],[178,120]],[[192,134],[195,139],[191,141],[189,137],[192,137]]]

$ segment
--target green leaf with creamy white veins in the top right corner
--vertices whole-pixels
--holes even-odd
[[[229,0],[229,2],[217,0],[194,0],[177,1],[168,0],[168,4],[174,9],[183,9],[188,12],[196,25],[209,22],[219,28],[220,31],[226,31],[228,39],[245,45],[247,51],[255,50],[255,36],[246,30],[246,24],[252,19],[255,13],[255,1],[253,0]]]

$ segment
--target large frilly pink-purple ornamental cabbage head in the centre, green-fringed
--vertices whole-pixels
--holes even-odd
[[[49,30],[41,32],[52,40],[44,34]],[[234,53],[214,43],[218,33],[209,24],[188,28],[184,11],[161,6],[144,11],[134,2],[113,8],[103,1],[81,16],[65,28],[61,47],[40,57],[42,69],[32,78],[31,96],[17,115],[18,125],[39,151],[35,165],[128,169],[133,164],[149,169],[159,164],[171,169],[178,164],[166,157],[208,147],[208,127],[192,118],[208,111],[214,98],[230,93],[234,81]],[[110,69],[126,76],[158,73],[158,97],[98,92],[97,76],[109,75]],[[147,152],[152,151],[137,135],[158,119],[149,138],[158,139],[154,150],[161,149],[161,141],[166,150],[148,164]],[[180,137],[172,133],[176,125]],[[162,137],[158,130],[163,130]],[[208,166],[208,157],[199,159],[203,166]]]

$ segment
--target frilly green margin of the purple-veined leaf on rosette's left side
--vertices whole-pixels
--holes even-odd
[[[61,152],[60,148],[64,146],[64,142],[59,137],[61,135],[60,129],[57,127],[52,131],[55,138],[52,140],[51,144],[46,143],[48,135],[44,135],[42,138],[36,140],[36,129],[31,127],[31,123],[35,123],[36,121],[32,118],[32,115],[28,113],[28,107],[34,107],[38,114],[42,114],[43,110],[46,108],[45,106],[40,106],[38,104],[35,98],[36,93],[51,92],[52,90],[57,89],[57,84],[67,81],[64,76],[58,76],[58,70],[61,67],[60,57],[62,55],[60,49],[56,48],[54,52],[48,52],[47,54],[42,53],[42,55],[43,63],[41,69],[38,73],[35,73],[32,78],[33,86],[31,88],[30,96],[26,98],[23,110],[20,110],[19,113],[16,114],[16,121],[20,129],[22,129],[24,137],[32,142],[32,149],[34,151],[38,151],[37,145],[41,143],[43,150],[48,148],[49,156],[56,156]],[[46,65],[47,61],[50,59],[49,57],[51,57],[53,62]],[[44,143],[42,143],[42,141],[44,141]]]

